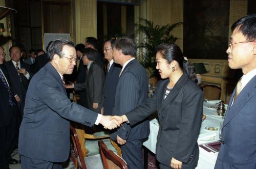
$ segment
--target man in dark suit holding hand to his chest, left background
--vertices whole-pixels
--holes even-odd
[[[11,60],[6,62],[5,65],[10,75],[10,80],[19,111],[23,117],[25,97],[32,73],[30,72],[30,66],[20,60],[22,52],[18,46],[12,46],[9,49],[9,52]]]

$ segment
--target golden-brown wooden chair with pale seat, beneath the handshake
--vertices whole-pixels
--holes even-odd
[[[95,132],[93,134],[88,134],[85,132],[86,130],[83,125],[78,123],[72,123],[72,125],[76,130],[83,157],[99,154],[98,142],[97,142],[99,139],[108,139],[108,140],[105,140],[106,142],[108,142],[108,146],[112,147],[113,150],[115,149],[115,151],[117,151],[117,154],[121,157],[121,149],[114,142],[114,140],[110,139],[109,133],[100,131],[100,132]],[[89,147],[90,151],[87,149],[87,146]]]

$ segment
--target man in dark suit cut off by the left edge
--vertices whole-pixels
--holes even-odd
[[[4,48],[0,46],[0,168],[9,168],[17,160],[11,158],[18,135],[18,111],[11,91],[11,82],[5,67]]]

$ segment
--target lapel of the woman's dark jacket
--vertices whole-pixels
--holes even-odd
[[[160,111],[166,107],[170,102],[172,102],[174,100],[174,98],[178,95],[178,93],[180,92],[180,89],[184,86],[185,82],[187,80],[187,74],[183,73],[183,75],[180,77],[180,79],[177,81],[177,83],[175,84],[174,88],[172,91],[170,91],[170,93],[167,95],[167,97],[163,100],[162,106],[160,108]],[[167,85],[167,84],[166,84]],[[163,88],[163,97],[164,97],[164,92],[166,90],[166,88]]]

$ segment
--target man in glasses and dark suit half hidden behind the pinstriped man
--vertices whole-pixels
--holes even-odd
[[[108,60],[109,64],[106,69],[106,78],[103,90],[104,102],[101,108],[101,114],[112,115],[112,110],[115,104],[116,86],[119,81],[121,65],[114,63],[113,47],[115,39],[108,39],[104,42],[103,53],[104,59]]]

